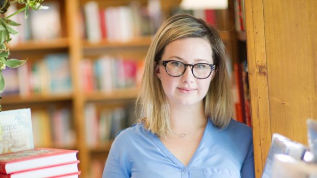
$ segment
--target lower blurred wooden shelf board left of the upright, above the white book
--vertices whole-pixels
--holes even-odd
[[[72,94],[57,94],[57,95],[44,95],[32,94],[29,96],[19,95],[4,95],[0,100],[1,105],[14,105],[14,104],[30,104],[30,103],[47,103],[52,101],[65,101],[72,100]]]

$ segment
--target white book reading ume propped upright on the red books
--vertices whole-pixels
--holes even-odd
[[[0,154],[34,148],[31,110],[0,112]]]

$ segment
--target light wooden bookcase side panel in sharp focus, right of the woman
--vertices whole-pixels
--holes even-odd
[[[256,177],[274,133],[307,145],[306,120],[317,119],[316,8],[317,1],[245,1]]]

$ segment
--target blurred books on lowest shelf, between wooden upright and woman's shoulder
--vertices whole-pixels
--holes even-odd
[[[85,131],[88,147],[94,148],[108,143],[116,134],[129,126],[134,118],[130,108],[99,108],[88,103],[85,106]]]

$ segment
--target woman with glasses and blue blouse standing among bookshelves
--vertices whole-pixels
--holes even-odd
[[[231,118],[225,47],[203,20],[163,22],[137,105],[140,120],[117,135],[103,177],[254,177],[252,130]]]

